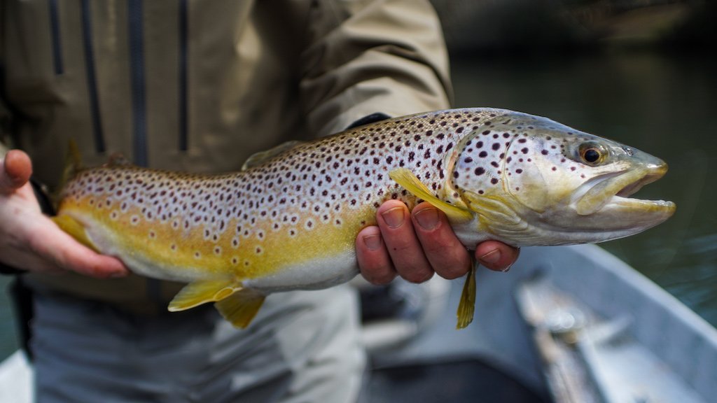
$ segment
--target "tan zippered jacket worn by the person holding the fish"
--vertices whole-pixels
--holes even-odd
[[[120,152],[235,171],[370,113],[447,108],[450,93],[440,24],[416,0],[0,0],[0,66],[0,139],[51,188],[70,138],[87,165]],[[28,277],[140,307],[176,291],[136,276]]]

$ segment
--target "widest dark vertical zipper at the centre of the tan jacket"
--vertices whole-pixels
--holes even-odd
[[[144,39],[142,0],[129,0],[130,80],[134,123],[133,160],[147,166],[147,116],[144,77]]]

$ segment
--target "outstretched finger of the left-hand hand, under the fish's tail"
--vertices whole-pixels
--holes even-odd
[[[65,270],[97,278],[122,277],[128,274],[123,263],[115,257],[100,255],[80,244],[69,234],[60,230],[49,219],[39,223],[30,233],[29,247]]]

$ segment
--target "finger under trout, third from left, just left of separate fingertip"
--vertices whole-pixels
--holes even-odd
[[[470,255],[453,233],[443,212],[429,203],[412,212],[414,229],[433,270],[442,278],[459,278],[470,268]]]

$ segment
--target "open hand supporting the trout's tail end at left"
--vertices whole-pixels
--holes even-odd
[[[12,150],[0,159],[0,262],[24,270],[71,270],[97,278],[121,277],[127,268],[75,241],[42,214],[29,183],[32,163]]]

